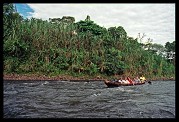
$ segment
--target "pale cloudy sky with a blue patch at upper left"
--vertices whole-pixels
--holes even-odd
[[[24,18],[62,18],[72,16],[75,22],[85,20],[89,15],[94,23],[105,27],[122,26],[127,35],[137,38],[145,34],[152,43],[165,45],[175,41],[175,3],[34,3],[15,4],[17,12]]]

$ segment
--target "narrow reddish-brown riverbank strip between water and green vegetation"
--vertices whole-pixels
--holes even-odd
[[[102,81],[102,80],[109,80],[109,79],[119,79],[121,76],[113,76],[113,77],[106,77],[106,76],[70,76],[70,75],[59,75],[59,76],[46,76],[40,74],[4,74],[3,80],[71,80],[71,81]],[[167,80],[175,80],[175,78],[152,78],[147,79],[148,81],[167,81]]]

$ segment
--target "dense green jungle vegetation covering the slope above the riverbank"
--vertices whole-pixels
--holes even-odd
[[[141,43],[143,36],[101,27],[90,16],[24,19],[13,4],[3,4],[4,73],[175,77],[175,41]]]

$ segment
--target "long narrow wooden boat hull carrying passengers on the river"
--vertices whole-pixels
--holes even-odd
[[[133,86],[133,85],[143,85],[143,84],[145,84],[145,82],[121,83],[121,82],[118,82],[118,81],[108,81],[108,80],[105,80],[104,83],[108,87]]]

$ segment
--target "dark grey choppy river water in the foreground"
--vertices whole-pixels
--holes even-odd
[[[175,81],[3,81],[4,118],[175,118]]]

